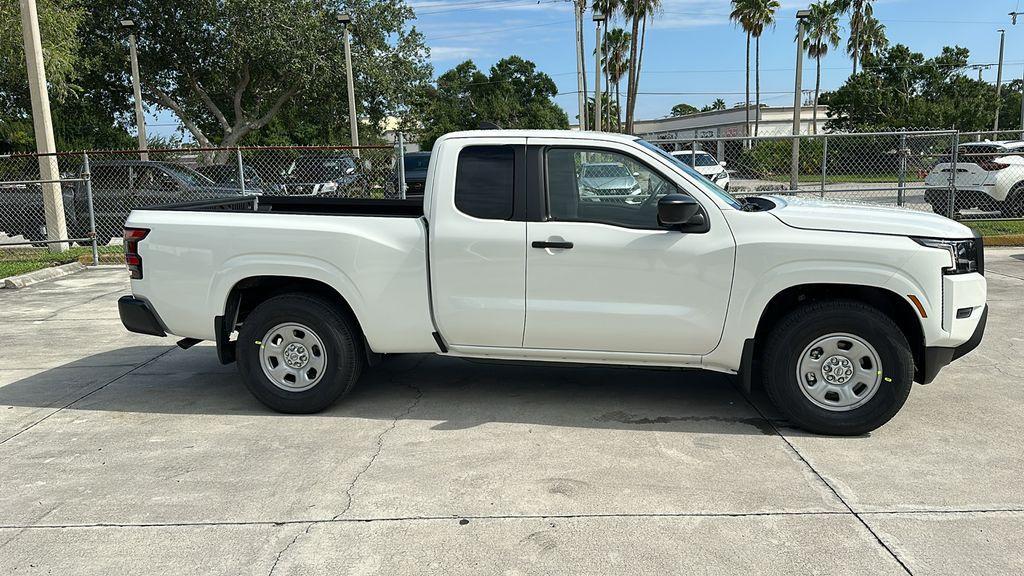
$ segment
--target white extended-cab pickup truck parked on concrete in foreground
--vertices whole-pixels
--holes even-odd
[[[622,164],[629,190],[585,190]],[[129,330],[213,340],[283,412],[383,355],[698,368],[859,435],[981,340],[980,238],[942,216],[734,199],[625,135],[470,131],[423,202],[253,197],[135,210]]]

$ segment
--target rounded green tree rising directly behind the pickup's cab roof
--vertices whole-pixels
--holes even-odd
[[[420,90],[414,113],[420,121],[421,143],[430,148],[441,135],[494,122],[503,128],[568,128],[565,111],[552,98],[554,80],[519,56],[503,58],[489,75],[466,60],[437,79],[436,87]]]

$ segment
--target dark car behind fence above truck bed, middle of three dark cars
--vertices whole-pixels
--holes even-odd
[[[354,157],[300,156],[285,170],[282,192],[294,196],[359,196],[368,178]]]

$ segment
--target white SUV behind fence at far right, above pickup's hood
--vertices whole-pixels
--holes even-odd
[[[925,178],[925,198],[937,214],[964,210],[1024,216],[1024,141],[961,145],[956,153],[956,201],[949,210],[951,159],[936,164]]]

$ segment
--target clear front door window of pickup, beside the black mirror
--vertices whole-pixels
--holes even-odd
[[[547,167],[553,220],[657,229],[657,199],[676,192],[660,174],[616,152],[551,149]]]

